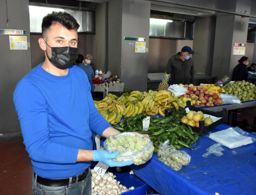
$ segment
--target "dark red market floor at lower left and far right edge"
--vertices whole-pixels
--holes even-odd
[[[241,109],[237,122],[245,129],[256,132],[256,106]],[[0,194],[33,194],[32,174],[28,153],[22,143],[21,132],[8,131],[0,135]]]

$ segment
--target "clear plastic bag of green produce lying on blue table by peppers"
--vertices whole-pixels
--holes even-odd
[[[164,164],[170,166],[175,171],[179,171],[183,165],[185,166],[190,163],[191,156],[184,151],[178,151],[175,147],[169,145],[169,142],[170,140],[166,140],[158,146],[157,156]]]

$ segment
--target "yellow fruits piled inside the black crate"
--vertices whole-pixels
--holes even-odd
[[[189,111],[186,116],[182,117],[181,122],[190,126],[199,127],[199,121],[204,121],[205,126],[209,126],[213,123],[210,117],[204,117],[202,111],[194,113],[194,111]]]

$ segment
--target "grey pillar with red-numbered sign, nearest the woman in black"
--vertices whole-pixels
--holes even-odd
[[[230,11],[250,12],[250,0],[232,1]],[[212,76],[218,79],[232,76],[234,67],[243,55],[233,55],[234,43],[246,43],[249,18],[226,13],[217,13],[213,53]],[[246,50],[245,50],[246,52]],[[246,55],[246,54],[245,54]]]

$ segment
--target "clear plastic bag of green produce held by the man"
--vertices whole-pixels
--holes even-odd
[[[104,148],[110,153],[119,152],[115,161],[133,161],[135,165],[146,163],[152,158],[154,145],[147,134],[135,134],[124,132],[118,135],[110,135],[104,141]]]

